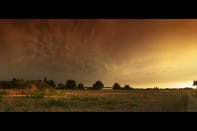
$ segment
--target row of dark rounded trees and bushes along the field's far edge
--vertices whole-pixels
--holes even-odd
[[[30,87],[31,85],[35,85],[38,88],[55,88],[55,89],[69,89],[69,90],[100,90],[104,88],[104,84],[102,81],[97,80],[92,84],[92,87],[85,87],[83,83],[78,83],[75,80],[67,80],[65,83],[56,84],[54,80],[48,80],[44,77],[43,80],[31,80],[25,81],[23,79],[13,78],[11,81],[0,81],[0,88],[3,89],[11,89],[11,88],[25,88]],[[119,83],[114,83],[112,86],[114,90],[131,90],[133,89],[129,85],[125,85],[121,87]]]

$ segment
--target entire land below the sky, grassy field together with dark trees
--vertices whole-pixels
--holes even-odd
[[[115,83],[113,90],[105,90],[102,81],[87,88],[75,80],[67,80],[56,87],[55,82],[46,77],[43,81],[13,78],[1,81],[0,88],[0,111],[197,111],[197,90],[191,88],[134,89]]]

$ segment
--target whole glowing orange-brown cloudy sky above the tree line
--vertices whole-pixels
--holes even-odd
[[[197,79],[197,20],[0,20],[0,79],[185,87]]]

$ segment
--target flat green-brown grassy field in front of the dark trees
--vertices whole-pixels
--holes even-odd
[[[192,93],[189,90],[0,90],[0,111],[185,112],[188,104],[192,105],[190,95],[197,97],[197,91]]]

